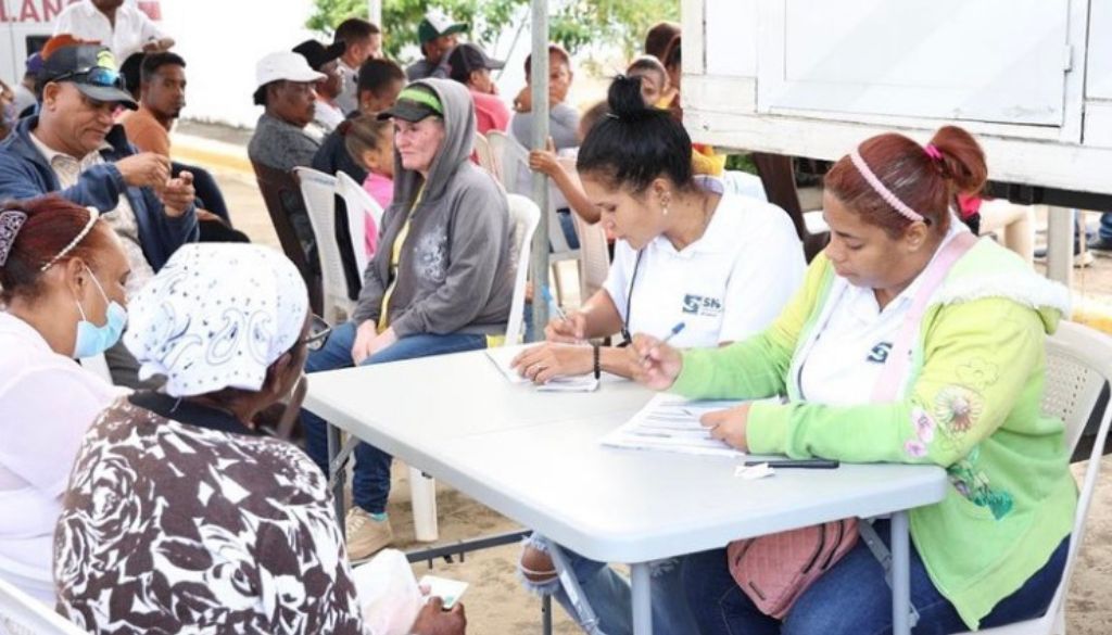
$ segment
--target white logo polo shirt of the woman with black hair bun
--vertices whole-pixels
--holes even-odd
[[[622,319],[628,317],[631,335],[664,337],[685,323],[671,341],[678,348],[714,347],[761,333],[800,288],[806,269],[787,214],[732,194],[722,197],[698,240],[676,251],[658,236],[643,249],[639,266],[636,261],[637,252],[617,241],[603,288]]]

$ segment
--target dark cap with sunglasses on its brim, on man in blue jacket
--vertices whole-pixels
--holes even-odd
[[[116,102],[136,110],[139,105],[123,86],[111,49],[99,44],[62,47],[43,59],[39,86],[68,81],[89,99]]]

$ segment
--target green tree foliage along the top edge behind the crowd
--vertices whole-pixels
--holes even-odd
[[[397,58],[417,43],[417,23],[429,7],[437,7],[471,27],[470,39],[489,46],[508,29],[528,37],[529,0],[384,0],[383,46]],[[608,44],[627,57],[641,50],[645,32],[661,20],[679,20],[679,0],[549,0],[553,41],[569,51]],[[351,16],[367,17],[366,0],[316,0],[307,27],[326,34]]]

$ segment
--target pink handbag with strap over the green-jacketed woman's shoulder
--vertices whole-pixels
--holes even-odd
[[[976,244],[972,234],[955,236],[927,267],[920,287],[888,353],[873,390],[873,401],[890,401],[898,395],[910,360],[911,341],[934,290],[950,268]],[[843,518],[734,540],[726,546],[729,574],[753,604],[770,617],[783,619],[795,601],[816,579],[857,544],[856,518]]]

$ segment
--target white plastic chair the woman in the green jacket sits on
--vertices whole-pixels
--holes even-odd
[[[1065,421],[1065,443],[1071,452],[1081,440],[1081,434],[1105,381],[1112,381],[1112,339],[1089,327],[1062,323],[1058,333],[1046,339],[1046,386],[1042,406],[1046,414]],[[1096,430],[1093,452],[1089,455],[1078,499],[1078,513],[1073,519],[1070,554],[1062,583],[1059,584],[1046,614],[1036,619],[977,631],[979,635],[1065,635],[1065,596],[1085,536],[1085,520],[1101,472],[1101,453],[1109,434],[1110,420],[1112,407],[1105,407],[1101,413],[1101,425]]]

